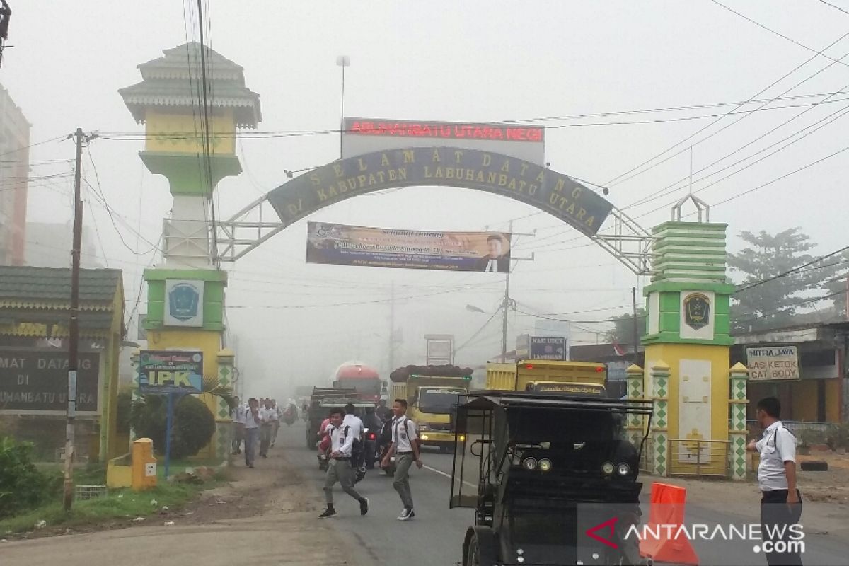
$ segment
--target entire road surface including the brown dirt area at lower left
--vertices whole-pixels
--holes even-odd
[[[371,503],[366,517],[360,516],[357,502],[337,487],[339,513],[333,518],[319,519],[318,513],[323,508],[323,473],[318,470],[315,451],[304,447],[304,434],[302,423],[291,429],[281,429],[278,447],[271,458],[259,462],[256,470],[235,470],[239,478],[236,483],[242,491],[234,493],[233,504],[238,504],[239,493],[265,494],[267,506],[257,513],[197,524],[178,516],[176,526],[162,526],[161,518],[157,524],[157,518],[153,517],[146,523],[148,526],[0,543],[0,566],[87,566],[113,556],[160,566],[194,563],[205,566],[232,566],[234,563],[447,566],[458,563],[464,533],[474,517],[469,509],[448,509],[451,456],[428,451],[423,458],[425,468],[413,469],[416,518],[412,521],[396,520],[402,505],[392,489],[392,479],[379,469],[370,470],[357,485]],[[295,468],[300,477],[287,474],[291,468]],[[466,470],[465,479],[472,484],[474,464]],[[476,492],[472,485],[464,487]],[[645,485],[644,492],[649,490],[649,485]],[[214,497],[211,502],[215,502]],[[644,503],[643,512],[647,517],[648,502]],[[752,502],[752,513],[748,517],[718,513],[689,503],[686,522],[756,523],[756,513],[756,502]],[[806,566],[849,563],[849,541],[836,535],[808,532],[805,542],[807,548],[802,559]],[[753,552],[752,546],[751,542],[743,541],[694,543],[703,566],[764,566],[766,560],[762,554]]]

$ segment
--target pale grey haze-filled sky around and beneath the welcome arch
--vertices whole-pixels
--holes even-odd
[[[849,11],[847,0],[832,3]],[[644,227],[668,220],[687,194],[692,145],[692,188],[729,234],[801,227],[818,253],[846,244],[849,151],[812,164],[846,149],[849,57],[834,59],[849,55],[849,14],[817,0],[723,2],[739,14],[709,0],[202,4],[207,43],[244,66],[247,87],[261,95],[260,132],[338,128],[335,60],[345,54],[346,115],[549,126],[551,167],[609,187],[608,198]],[[197,3],[189,0],[11,5],[14,48],[4,53],[0,83],[31,121],[34,143],[77,126],[143,132],[117,90],[141,80],[137,64],[199,39]],[[760,102],[729,104],[750,99]],[[160,262],[145,240],[159,241],[171,208],[166,180],[138,159],[142,145],[105,136],[91,144],[112,219],[84,193],[102,263],[124,271],[128,313],[137,302],[144,311],[142,272]],[[335,133],[239,139],[245,171],[219,184],[218,216],[283,183],[284,170],[323,165],[338,151]],[[70,219],[73,154],[70,140],[31,150],[30,221]],[[88,157],[84,167],[96,184]],[[630,309],[631,288],[643,281],[575,229],[513,200],[405,188],[310,217],[431,230],[506,230],[510,219],[514,232],[536,236],[514,246],[514,255],[534,261],[514,269],[509,350],[540,314],[571,321],[573,343],[587,344],[610,326],[605,319]],[[500,317],[478,331],[502,300],[503,275],[306,265],[305,240],[306,220],[223,265],[246,393],[279,398],[291,384],[325,384],[352,358],[387,369],[393,284],[402,332],[395,366],[424,361],[424,333],[451,333],[458,345],[474,336],[458,351],[464,365],[500,352]],[[739,238],[729,240],[739,249]]]

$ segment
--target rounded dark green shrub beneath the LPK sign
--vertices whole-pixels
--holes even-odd
[[[132,405],[130,418],[138,437],[154,441],[158,454],[165,453],[167,400],[164,395],[144,395]],[[215,417],[203,401],[189,395],[174,406],[171,457],[194,456],[215,434]]]

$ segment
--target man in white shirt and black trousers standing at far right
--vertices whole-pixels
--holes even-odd
[[[779,420],[781,402],[775,397],[758,401],[755,416],[764,429],[763,435],[761,440],[751,440],[746,448],[761,454],[757,483],[762,493],[761,524],[767,564],[801,566],[798,548],[787,545],[804,536],[799,526],[801,493],[796,488],[796,437]],[[778,550],[785,552],[773,548],[778,541],[784,541]]]

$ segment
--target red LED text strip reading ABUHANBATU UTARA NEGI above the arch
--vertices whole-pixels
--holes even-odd
[[[436,137],[439,139],[543,143],[545,128],[541,126],[507,126],[470,122],[349,119],[346,121],[345,133],[360,136]]]

